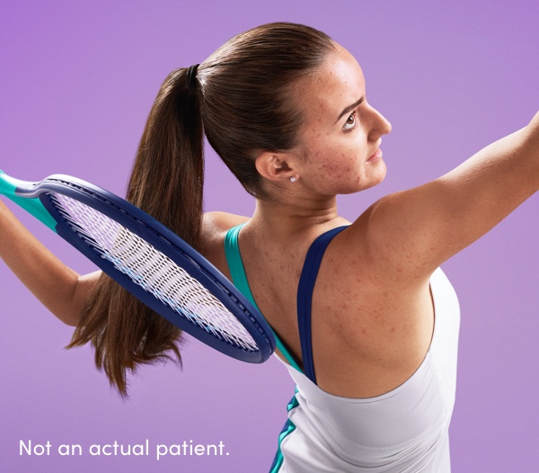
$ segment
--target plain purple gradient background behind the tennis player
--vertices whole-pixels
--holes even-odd
[[[74,174],[124,192],[163,78],[263,22],[311,24],[348,48],[369,101],[393,122],[384,183],[341,199],[354,219],[377,198],[427,182],[526,125],[539,105],[539,4],[428,1],[268,3],[4,1],[0,16],[0,168],[27,180]],[[253,201],[208,150],[207,210],[249,214]],[[13,208],[13,206],[12,206]],[[539,464],[538,201],[532,198],[446,263],[463,319],[455,472]],[[63,261],[90,263],[17,210]],[[0,469],[16,472],[267,471],[293,393],[272,360],[251,366],[189,341],[183,371],[140,370],[124,402],[71,330],[0,266]],[[388,426],[389,428],[389,426]],[[19,456],[19,441],[225,443],[228,456]]]

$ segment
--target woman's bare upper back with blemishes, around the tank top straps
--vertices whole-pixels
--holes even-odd
[[[225,233],[247,219],[206,214],[204,252],[230,278]],[[299,365],[296,297],[305,255],[315,237],[345,224],[339,219],[304,235],[260,237],[256,222],[240,232],[239,245],[254,299]],[[402,384],[429,349],[434,313],[428,281],[415,293],[376,274],[347,230],[329,245],[313,296],[313,347],[317,384],[342,397],[374,397]],[[350,248],[354,248],[351,254]],[[282,359],[281,355],[281,359]]]

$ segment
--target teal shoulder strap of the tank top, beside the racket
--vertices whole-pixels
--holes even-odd
[[[238,235],[240,234],[240,230],[242,229],[242,227],[243,224],[238,225],[237,227],[230,228],[230,230],[228,230],[228,232],[226,233],[226,263],[228,263],[228,269],[230,270],[230,274],[232,275],[232,282],[234,283],[234,286],[238,288],[238,290],[242,292],[243,296],[249,299],[252,305],[260,312],[261,309],[257,306],[256,301],[252,297],[251,288],[249,287],[249,281],[247,281],[247,275],[245,274],[245,268],[243,267],[242,254],[240,254],[240,246],[238,245]],[[296,370],[298,370],[300,373],[303,372],[301,368],[299,368],[296,360],[294,360],[292,355],[288,352],[287,347],[280,341],[278,335],[275,334],[275,332],[273,333],[273,335],[275,335],[275,342],[277,344],[278,351],[283,354],[283,356],[287,359],[290,365],[296,368]]]

